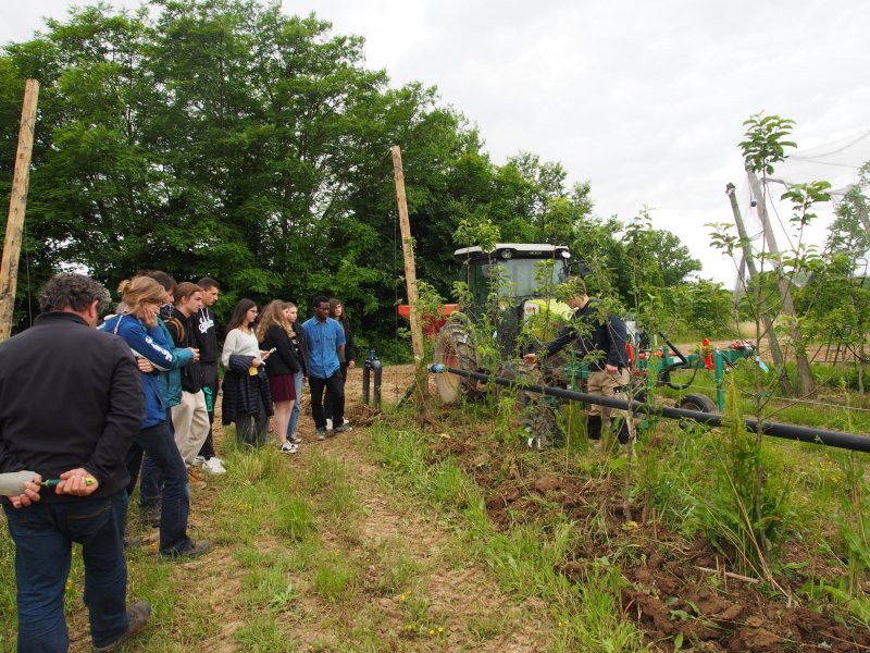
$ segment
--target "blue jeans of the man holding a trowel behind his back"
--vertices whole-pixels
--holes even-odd
[[[119,516],[124,490],[111,496],[72,497],[15,509],[3,503],[15,543],[18,651],[58,653],[70,646],[63,594],[70,576],[72,543],[82,544],[85,605],[95,646],[104,646],[127,629],[127,563]]]

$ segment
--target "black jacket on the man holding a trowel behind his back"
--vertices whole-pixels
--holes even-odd
[[[84,467],[100,483],[91,496],[109,496],[129,482],[124,455],[144,417],[133,352],[80,317],[42,313],[0,343],[0,472],[27,469],[45,480]]]

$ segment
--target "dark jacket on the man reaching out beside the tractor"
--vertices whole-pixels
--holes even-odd
[[[574,311],[571,322],[547,345],[546,356],[552,356],[571,342],[577,358],[586,359],[589,369],[602,370],[605,365],[629,366],[625,353],[625,322],[612,313],[604,313],[597,299],[589,299]]]

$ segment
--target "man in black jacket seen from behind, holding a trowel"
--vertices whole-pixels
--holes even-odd
[[[126,608],[124,454],[145,408],[129,347],[92,329],[108,303],[87,276],[54,276],[33,328],[0,344],[0,472],[36,472],[23,494],[2,500],[15,543],[18,651],[67,650],[73,542],[82,544],[95,651],[113,651],[150,614],[146,602]],[[40,491],[42,479],[60,482]]]

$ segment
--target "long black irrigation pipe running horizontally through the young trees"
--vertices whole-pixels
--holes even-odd
[[[561,387],[548,387],[545,385],[522,384],[518,383],[515,379],[505,379],[502,377],[490,377],[481,372],[469,372],[458,368],[447,367],[440,364],[428,366],[428,371],[438,374],[443,372],[450,372],[468,379],[476,379],[477,381],[493,381],[498,385],[511,386],[515,385],[524,392],[532,392],[535,394],[543,394],[551,397],[559,397],[569,399],[571,402],[586,402],[587,404],[598,404],[608,408],[619,408],[627,410],[631,406],[632,412],[643,412],[644,415],[652,415],[657,417],[666,417],[668,419],[691,419],[696,422],[708,424],[711,427],[722,426],[722,415],[718,412],[700,412],[698,410],[685,410],[684,408],[671,408],[670,406],[650,406],[642,402],[627,402],[625,399],[616,399],[612,397],[602,397],[599,395],[591,395],[585,392],[574,392],[573,390],[562,390]],[[758,431],[757,419],[746,419],[746,428],[753,433]],[[761,427],[761,433],[765,435],[772,435],[774,438],[783,438],[785,440],[797,440],[799,442],[809,442],[811,444],[824,444],[825,446],[835,446],[838,448],[848,449],[850,452],[863,452],[870,454],[870,436],[859,435],[857,433],[842,433],[840,431],[828,431],[824,429],[813,429],[810,427],[797,427],[794,424],[781,424],[776,422],[765,422]]]

